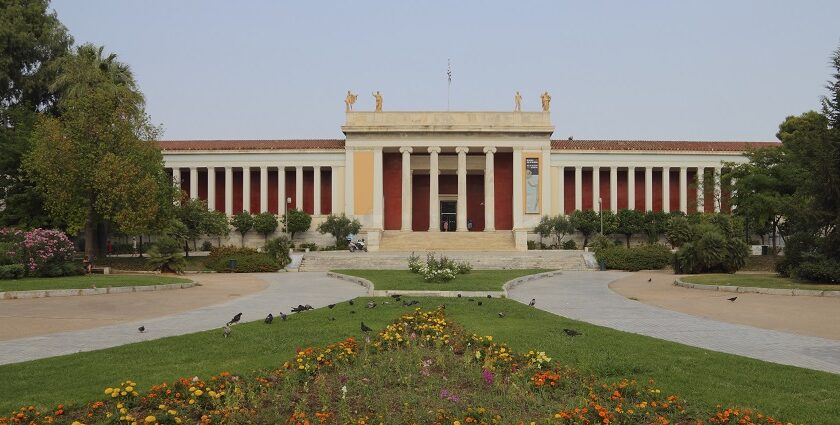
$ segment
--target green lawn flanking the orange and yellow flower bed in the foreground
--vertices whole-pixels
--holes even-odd
[[[0,412],[35,403],[81,403],[102,397],[107,386],[126,379],[142,390],[163,381],[222,371],[252,375],[279,367],[297,348],[324,345],[347,336],[361,338],[359,322],[380,329],[407,309],[387,298],[379,307],[341,303],[291,315],[271,326],[261,321],[235,326],[230,338],[221,330],[125,345],[106,350],[0,366]],[[483,306],[461,298],[419,298],[422,308],[445,303],[446,313],[480,335],[493,335],[514,349],[546,351],[604,381],[656,380],[663,392],[676,393],[704,410],[717,404],[752,407],[785,421],[837,423],[840,375],[751,360],[576,322],[507,299],[482,299]],[[389,301],[390,302],[390,301]],[[355,311],[351,314],[350,311]],[[499,318],[497,313],[506,313]],[[276,312],[275,312],[276,313]],[[245,320],[262,319],[265,312]],[[256,316],[256,317],[255,317]],[[327,320],[335,317],[336,321]],[[563,328],[583,336],[570,338]]]

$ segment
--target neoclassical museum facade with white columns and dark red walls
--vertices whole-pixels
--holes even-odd
[[[160,146],[176,184],[228,215],[298,208],[314,228],[346,213],[362,222],[371,249],[499,240],[524,249],[543,215],[726,210],[724,164],[776,145],[552,140],[549,112],[349,111],[341,129],[344,140]]]

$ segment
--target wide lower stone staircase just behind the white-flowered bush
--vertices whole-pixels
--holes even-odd
[[[425,257],[426,250],[414,251]],[[329,271],[338,269],[408,269],[411,251],[349,252],[321,251],[304,254],[300,271]],[[593,270],[584,260],[583,251],[445,251],[439,252],[455,261],[467,261],[475,269],[550,269]]]

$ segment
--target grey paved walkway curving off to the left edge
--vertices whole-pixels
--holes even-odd
[[[155,319],[120,323],[95,329],[0,341],[0,364],[115,347],[133,342],[220,329],[234,314],[242,321],[262,320],[270,312],[289,314],[298,304],[315,308],[365,295],[367,289],[327,277],[326,273],[260,274],[269,283],[260,292],[223,304],[216,304]],[[103,295],[104,296],[104,295]],[[137,328],[145,326],[146,332]]]

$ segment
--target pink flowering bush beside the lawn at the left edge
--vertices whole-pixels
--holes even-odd
[[[7,262],[23,264],[27,274],[34,276],[60,276],[69,269],[73,260],[73,242],[63,232],[50,229],[0,229],[0,241]],[[9,261],[12,260],[12,261]]]

